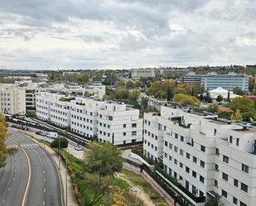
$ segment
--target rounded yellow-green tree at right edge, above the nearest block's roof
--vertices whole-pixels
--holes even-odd
[[[255,113],[254,100],[248,96],[234,98],[232,103],[229,103],[229,108],[233,111],[239,109],[240,113]]]

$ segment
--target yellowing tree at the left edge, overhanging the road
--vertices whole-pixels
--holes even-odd
[[[7,156],[14,155],[17,152],[17,148],[7,148],[5,141],[8,136],[7,122],[5,117],[0,115],[0,168],[6,165]]]

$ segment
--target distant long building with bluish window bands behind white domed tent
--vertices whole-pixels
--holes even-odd
[[[233,91],[234,88],[249,91],[249,78],[246,76],[229,73],[229,74],[206,74],[201,79],[201,84],[205,89],[215,89],[222,87],[223,89]]]

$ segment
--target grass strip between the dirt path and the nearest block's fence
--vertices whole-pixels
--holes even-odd
[[[148,197],[152,200],[154,204],[157,206],[168,206],[165,199],[162,198],[160,194],[157,193],[155,189],[152,188],[150,184],[147,183],[147,180],[142,178],[141,175],[137,175],[128,170],[122,170],[123,174],[127,176],[128,180],[133,182],[134,185],[140,186],[145,193],[147,193]]]

